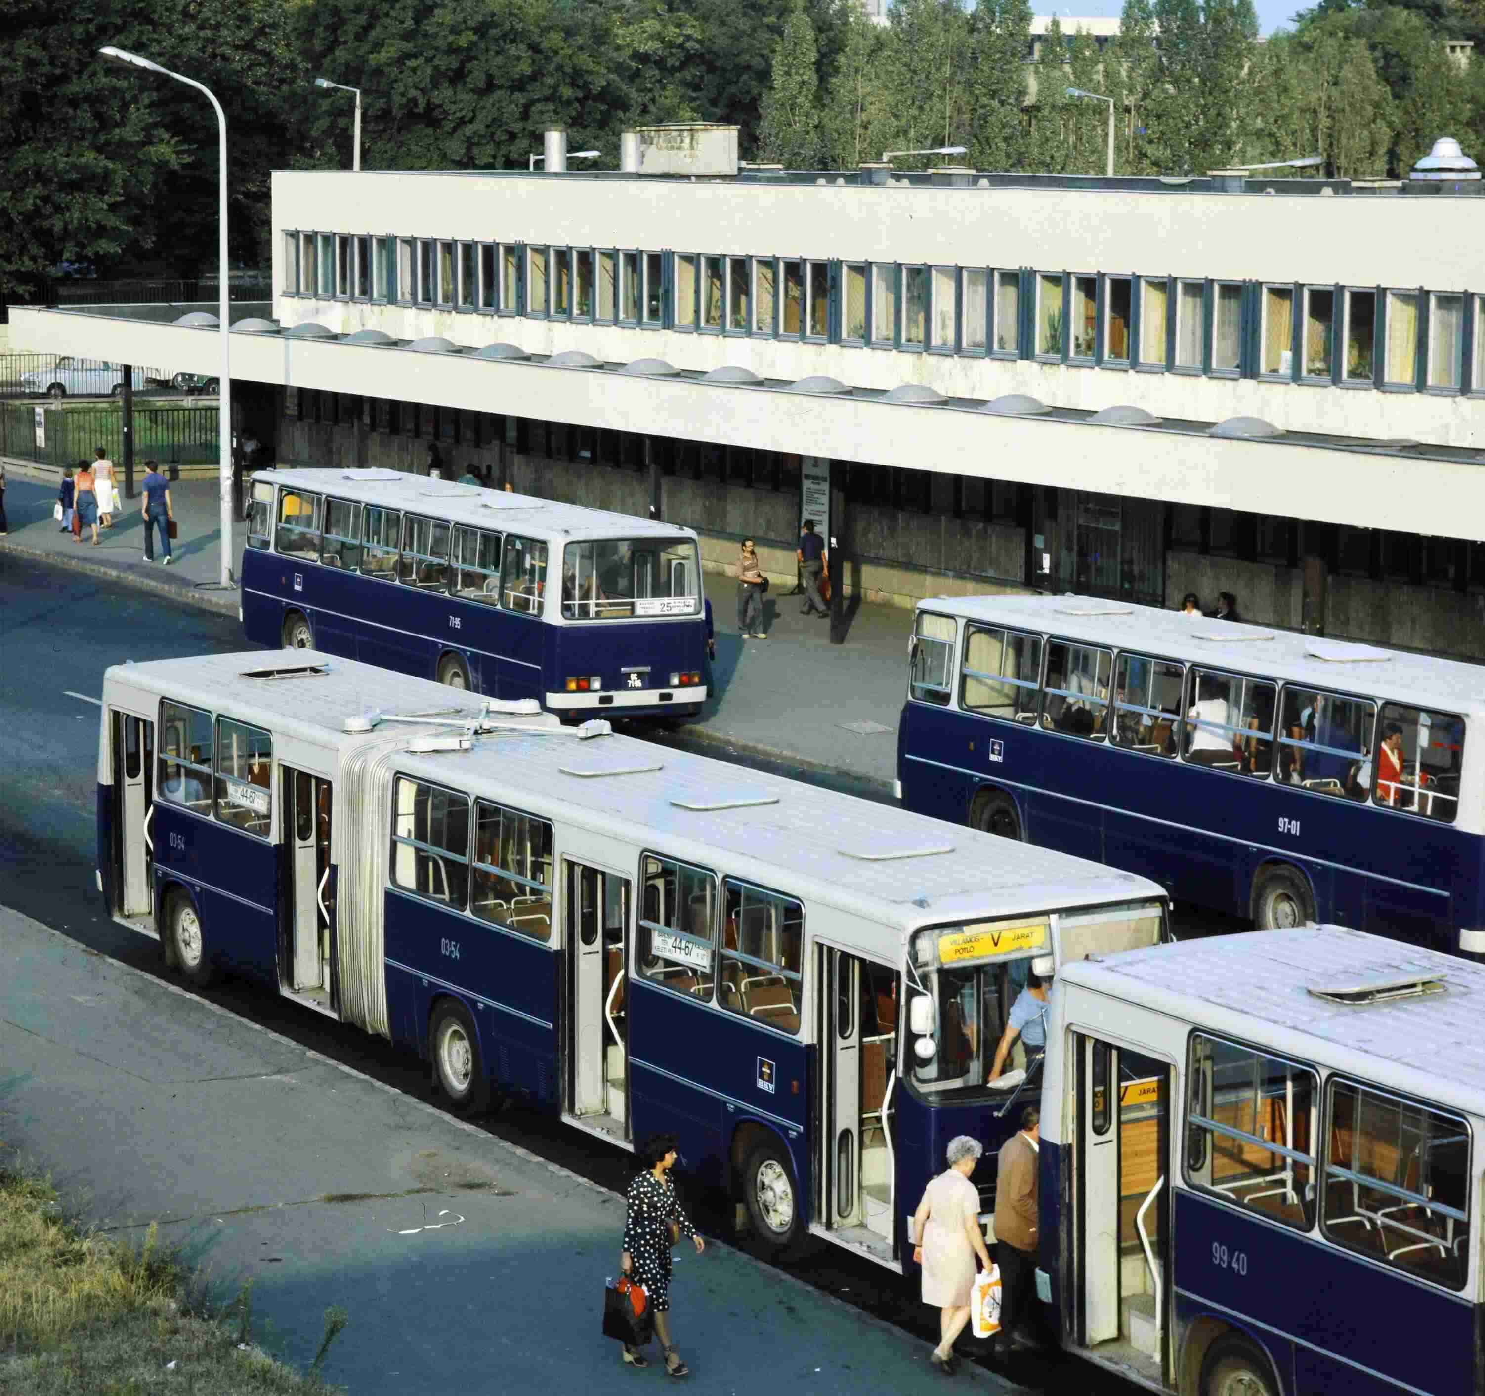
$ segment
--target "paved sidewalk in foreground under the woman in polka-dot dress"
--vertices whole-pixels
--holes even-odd
[[[628,1392],[600,1335],[624,1201],[278,1034],[0,910],[0,1141],[85,1218],[151,1221],[264,1346],[355,1396]],[[928,1344],[710,1242],[677,1252],[695,1392],[937,1392]],[[900,1285],[882,1274],[884,1285]],[[180,1374],[177,1374],[180,1380]],[[958,1386],[1017,1390],[968,1366]]]

